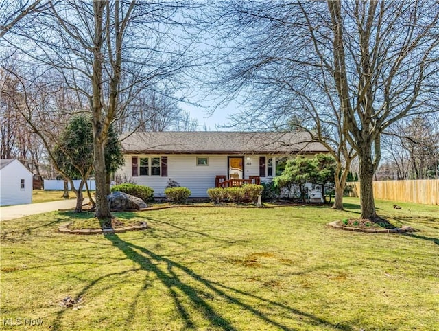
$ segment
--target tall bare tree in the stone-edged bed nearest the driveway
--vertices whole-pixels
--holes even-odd
[[[96,216],[110,218],[104,146],[108,128],[138,93],[176,77],[191,49],[182,29],[184,1],[51,2],[25,34],[7,34],[38,65],[56,68],[88,100],[92,115]]]

